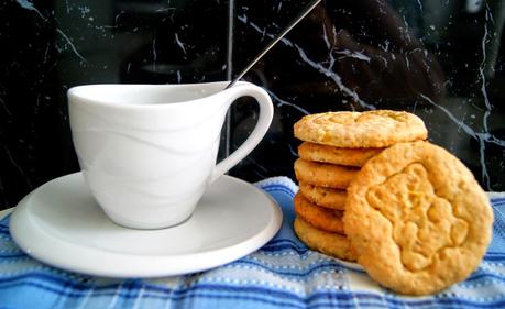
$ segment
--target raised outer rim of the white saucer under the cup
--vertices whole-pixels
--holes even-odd
[[[44,186],[47,184],[56,180],[62,181],[64,180],[63,178],[66,177],[77,177],[79,174],[81,174],[81,172],[68,174],[47,181],[26,195],[10,213],[10,233],[14,242],[23,252],[40,262],[69,272],[112,278],[155,278],[201,272],[230,263],[256,251],[275,236],[283,222],[281,207],[271,196],[250,183],[223,175],[221,177],[226,178],[228,181],[239,186],[246,186],[252,192],[261,194],[268,201],[267,207],[272,208],[274,216],[272,216],[268,222],[254,235],[223,247],[182,254],[142,255],[81,246],[56,235],[52,235],[47,231],[44,231],[39,224],[34,223],[31,218],[33,213],[30,212],[30,203],[28,202],[33,195],[39,190],[43,190]],[[128,229],[123,227],[120,228]],[[51,245],[48,245],[48,243],[51,243]],[[52,254],[50,252],[52,250],[48,249],[48,246],[63,251],[63,254]],[[92,256],[91,260],[98,261],[89,262],[89,256],[79,258],[80,255],[75,252],[95,254],[96,256]],[[101,261],[102,263],[98,263],[100,260],[107,261],[105,263],[103,261]],[[120,263],[113,261],[120,261]],[[113,264],[121,265],[114,266]],[[171,264],[176,265],[176,267],[171,266]]]

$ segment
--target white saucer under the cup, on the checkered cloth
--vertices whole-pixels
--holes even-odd
[[[17,206],[10,231],[29,255],[72,272],[107,277],[161,277],[209,269],[264,245],[282,211],[263,191],[222,176],[195,213],[164,230],[110,221],[80,173],[48,181]]]

